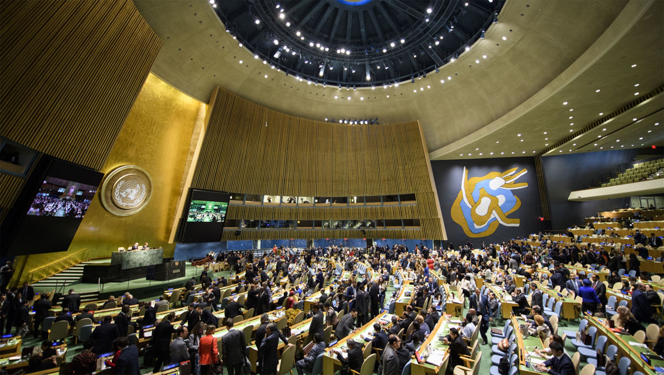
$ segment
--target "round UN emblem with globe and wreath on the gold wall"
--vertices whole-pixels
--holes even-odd
[[[146,171],[135,165],[114,169],[104,179],[102,204],[118,216],[139,212],[150,200],[152,180]]]

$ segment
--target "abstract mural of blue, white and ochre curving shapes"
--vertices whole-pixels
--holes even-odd
[[[521,200],[512,190],[528,187],[528,183],[515,183],[525,173],[525,168],[518,173],[512,168],[468,179],[468,170],[463,167],[461,190],[452,204],[452,220],[467,236],[475,238],[493,234],[499,224],[519,226],[518,218],[508,216],[521,207]]]

